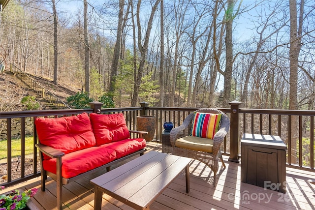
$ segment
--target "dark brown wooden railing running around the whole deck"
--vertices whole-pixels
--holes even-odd
[[[238,162],[240,154],[240,140],[243,133],[257,133],[279,135],[288,147],[287,166],[303,170],[314,169],[314,116],[315,111],[301,110],[263,110],[239,109],[240,103],[233,101],[230,108],[221,109],[231,121],[230,131],[222,145],[222,152],[229,155],[229,160]],[[5,130],[5,138],[0,139],[0,151],[5,152],[0,158],[0,185],[10,186],[40,176],[40,165],[36,144],[36,128],[33,121],[37,117],[62,117],[87,113],[123,113],[128,129],[136,130],[136,117],[139,115],[157,116],[156,135],[154,141],[161,140],[164,121],[174,122],[174,127],[179,126],[189,113],[198,108],[167,108],[150,107],[148,103],[141,103],[140,107],[101,109],[101,103],[92,102],[91,109],[65,109],[43,111],[0,112],[0,132]],[[31,118],[32,130],[27,131],[26,121]],[[297,119],[297,120],[296,120]],[[12,124],[19,121],[19,131],[12,132]],[[297,123],[293,123],[297,122]],[[293,126],[297,126],[293,128]],[[15,128],[16,129],[16,128]],[[296,129],[296,130],[295,130]],[[296,133],[293,136],[292,133]],[[32,152],[26,154],[26,137],[32,136]],[[1,133],[0,133],[1,136]],[[2,134],[3,136],[3,134]],[[19,137],[20,151],[17,156],[12,155],[12,143]],[[7,141],[6,141],[7,140]],[[16,148],[14,150],[17,150]],[[2,155],[3,156],[3,155]],[[30,170],[31,169],[31,170]]]

